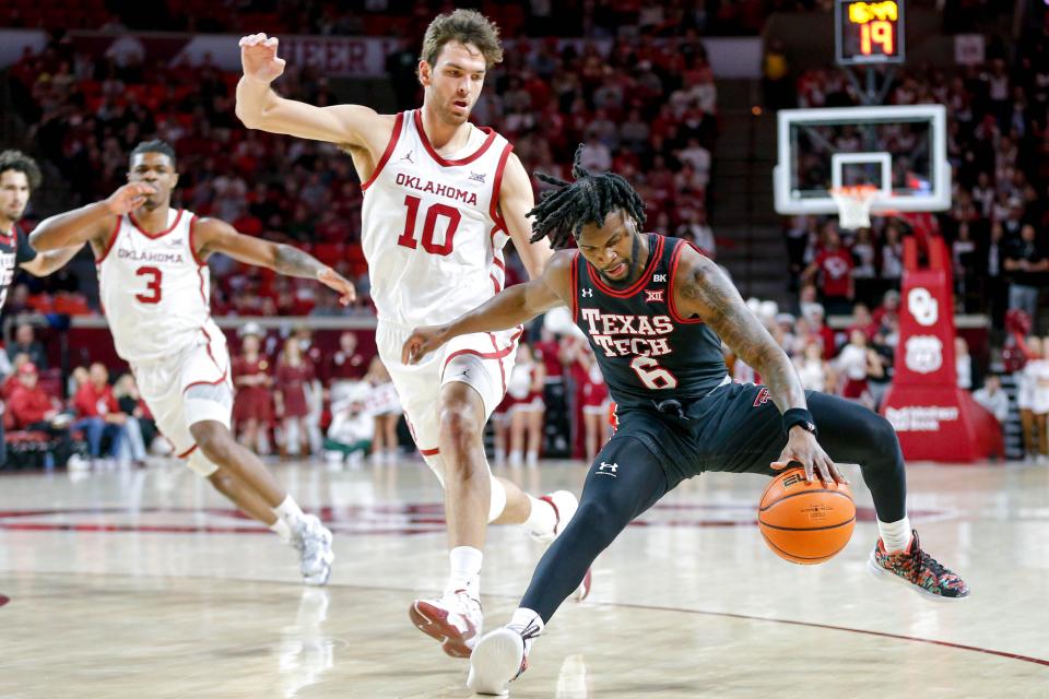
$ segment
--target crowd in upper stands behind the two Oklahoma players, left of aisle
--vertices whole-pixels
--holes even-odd
[[[530,173],[567,176],[576,145],[585,143],[588,167],[614,168],[637,186],[652,229],[689,237],[712,254],[706,202],[717,91],[703,45],[686,28],[677,26],[680,36],[659,44],[650,34],[620,39],[606,55],[594,43],[577,49],[558,48],[554,39],[521,40],[487,80],[473,118],[510,139]],[[421,103],[416,44],[405,43],[403,50],[412,58],[406,70],[403,62],[389,62],[402,109]],[[308,247],[357,281],[364,294],[356,310],[367,310],[363,200],[352,159],[330,144],[246,129],[234,115],[238,73],[208,60],[167,64],[91,57],[54,40],[38,54],[27,52],[9,74],[13,102],[34,125],[35,151],[68,192],[61,205],[107,197],[123,182],[134,145],[163,139],[178,154],[176,205],[223,218],[241,233]],[[339,102],[323,75],[294,64],[276,87],[311,104]],[[541,189],[538,180],[535,186]],[[31,210],[30,216],[43,213],[50,212]],[[515,266],[512,256],[510,262]],[[215,258],[212,272],[216,313],[354,310],[341,309],[333,295],[311,284],[232,260]],[[38,310],[90,312],[97,310],[96,299],[76,292],[91,287],[63,274],[33,281],[19,294]]]

